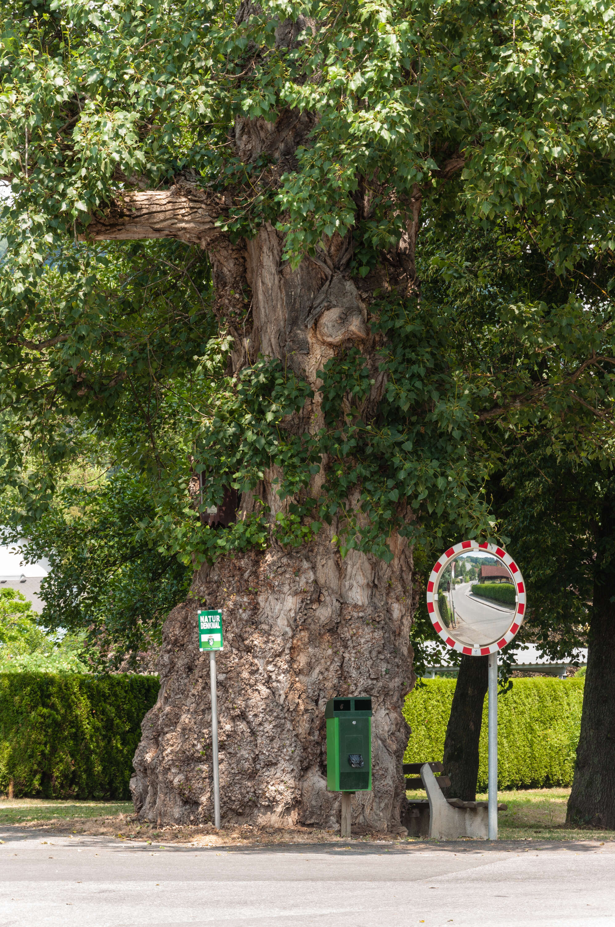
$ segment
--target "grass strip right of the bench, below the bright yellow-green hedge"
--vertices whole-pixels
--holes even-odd
[[[424,798],[419,789],[408,798]],[[519,789],[498,792],[497,801],[508,805],[498,812],[500,840],[615,840],[615,831],[566,827],[566,805],[570,789]],[[486,794],[476,800],[486,802]]]

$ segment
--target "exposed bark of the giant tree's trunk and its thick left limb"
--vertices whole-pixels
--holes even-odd
[[[271,225],[231,245],[216,225],[226,208],[223,197],[193,184],[135,190],[94,219],[88,234],[169,235],[207,249],[220,321],[234,337],[234,369],[262,353],[307,380],[315,399],[302,427],[322,425],[317,373],[344,347],[357,345],[365,356],[374,380],[370,405],[377,410],[383,376],[368,324],[370,284],[345,270],[349,237],[334,238],[318,258],[294,270],[282,261],[282,238]],[[250,297],[248,324],[240,325]],[[266,473],[257,491],[271,518],[285,507],[275,477]],[[244,496],[237,517],[256,502]],[[195,574],[189,601],[164,627],[160,694],[144,718],[134,758],[132,791],[144,818],[212,818],[209,667],[198,651],[196,613],[221,608],[222,820],[333,825],[340,799],[326,791],[324,706],[334,695],[367,694],[374,709],[373,792],[358,794],[355,821],[399,829],[408,742],[401,707],[413,682],[411,552],[394,536],[390,565],[357,552],[342,560],[331,542],[335,530],[335,523],[325,526],[316,540],[291,552],[273,542],[264,553],[225,556]]]

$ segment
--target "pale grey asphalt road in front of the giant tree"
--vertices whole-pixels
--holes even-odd
[[[2,927],[615,925],[615,843],[0,840]]]

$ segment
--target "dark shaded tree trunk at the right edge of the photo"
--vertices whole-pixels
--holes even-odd
[[[615,500],[604,504],[596,557],[581,736],[566,822],[615,830]]]

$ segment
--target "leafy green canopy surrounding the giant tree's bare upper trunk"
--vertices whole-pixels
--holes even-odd
[[[185,563],[300,544],[332,517],[343,554],[387,559],[398,530],[420,563],[440,539],[495,530],[483,488],[515,435],[599,453],[609,4],[19,0],[3,15],[0,403],[21,524],[88,440],[145,480],[135,532]],[[212,275],[206,232],[92,240],[141,215],[142,194],[188,188],[207,235],[241,243],[273,223],[291,266],[326,269],[322,242],[348,242],[376,363],[341,349],[324,365],[318,429],[292,358],[248,350],[238,373],[250,295]],[[207,525],[229,487],[247,495],[270,471],[283,513]]]

